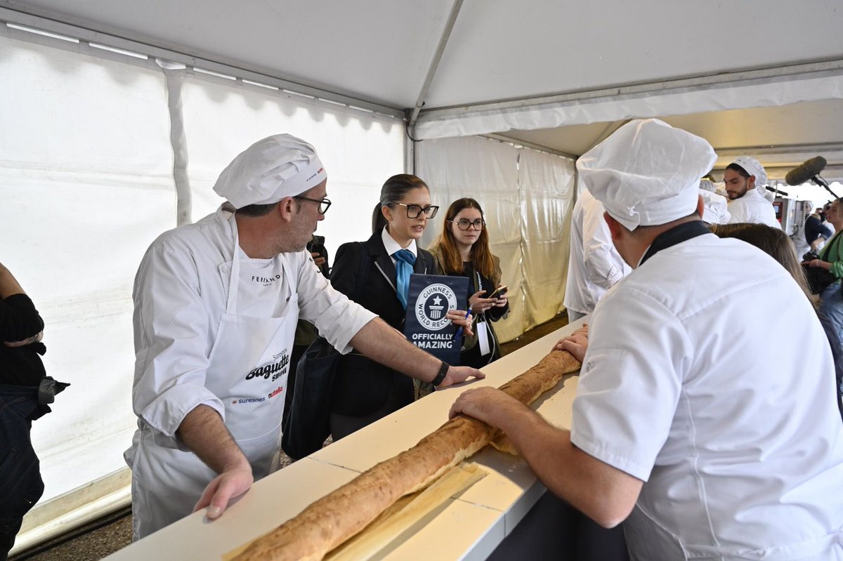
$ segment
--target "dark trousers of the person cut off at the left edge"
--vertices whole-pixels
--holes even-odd
[[[24,514],[44,493],[30,440],[38,388],[0,385],[0,561],[6,561]]]

